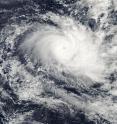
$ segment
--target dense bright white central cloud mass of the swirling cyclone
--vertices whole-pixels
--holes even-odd
[[[99,38],[73,19],[64,17],[58,20],[58,27],[40,24],[38,31],[33,32],[21,48],[33,61],[44,66],[101,80],[104,62],[99,55]]]

